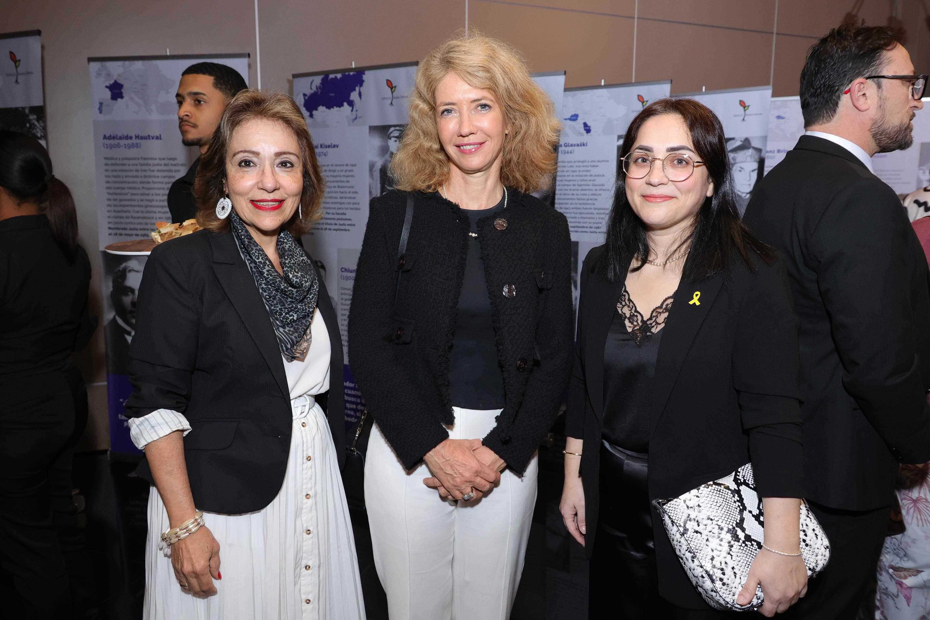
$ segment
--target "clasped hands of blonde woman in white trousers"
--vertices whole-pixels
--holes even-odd
[[[480,499],[500,481],[507,467],[480,439],[447,439],[423,457],[432,478],[423,484],[439,491],[443,499],[461,499],[473,493],[471,501]]]

